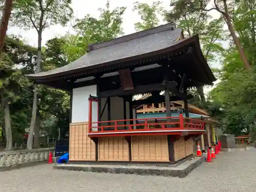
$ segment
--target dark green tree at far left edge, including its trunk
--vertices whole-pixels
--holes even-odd
[[[13,127],[11,124],[15,124],[15,120],[11,118],[13,117],[11,112],[17,112],[20,109],[20,104],[26,98],[26,95],[22,93],[27,92],[26,88],[30,86],[29,81],[23,76],[22,70],[18,69],[17,66],[30,60],[28,51],[31,50],[29,46],[24,45],[17,37],[7,37],[1,55],[0,99],[1,106],[4,109],[6,151],[12,150]],[[22,114],[18,113],[15,117],[21,116]],[[20,125],[18,126],[21,127],[24,119],[17,119],[16,122],[19,122]]]

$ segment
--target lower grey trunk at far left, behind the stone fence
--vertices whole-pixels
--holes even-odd
[[[12,127],[11,127],[11,117],[9,103],[4,98],[3,92],[0,93],[2,107],[4,108],[4,117],[5,117],[5,132],[6,132],[6,149],[5,151],[12,151]]]

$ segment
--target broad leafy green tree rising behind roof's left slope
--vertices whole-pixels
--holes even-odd
[[[73,26],[76,35],[67,35],[66,44],[63,45],[65,56],[71,62],[87,52],[90,44],[107,41],[123,34],[122,16],[126,7],[116,7],[110,10],[108,1],[105,8],[99,8],[99,18],[86,15],[82,19],[76,19]]]

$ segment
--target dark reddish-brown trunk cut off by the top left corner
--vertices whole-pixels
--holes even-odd
[[[5,6],[2,14],[1,24],[0,24],[0,53],[5,44],[5,36],[8,29],[8,24],[12,12],[12,2],[13,0],[6,0]]]

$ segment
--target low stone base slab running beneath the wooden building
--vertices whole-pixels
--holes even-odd
[[[172,177],[186,177],[191,170],[198,167],[204,157],[195,157],[175,167],[169,166],[141,166],[141,165],[107,165],[107,164],[59,164],[55,169],[79,170],[83,172],[98,172],[112,174],[161,175]]]

